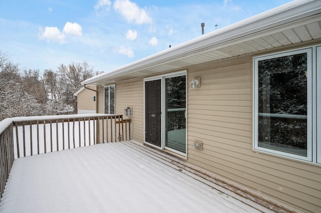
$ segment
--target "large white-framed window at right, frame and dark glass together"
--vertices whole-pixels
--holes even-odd
[[[321,152],[317,150],[321,142],[317,142],[320,138],[316,133],[316,105],[321,80],[319,76],[316,79],[320,67],[315,62],[320,60],[318,48],[254,58],[255,150],[319,163],[321,156],[317,158],[316,154]]]

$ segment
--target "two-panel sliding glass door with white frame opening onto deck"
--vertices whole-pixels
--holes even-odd
[[[144,141],[186,153],[186,72],[144,81]]]

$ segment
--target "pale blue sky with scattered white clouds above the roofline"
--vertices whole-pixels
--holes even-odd
[[[0,51],[21,68],[109,71],[290,0],[0,0]]]

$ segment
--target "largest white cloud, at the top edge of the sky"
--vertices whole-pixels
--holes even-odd
[[[126,18],[128,22],[136,24],[151,23],[152,18],[146,13],[145,9],[131,2],[130,0],[115,0],[114,9]]]

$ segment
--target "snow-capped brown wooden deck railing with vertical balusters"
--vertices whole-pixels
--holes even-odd
[[[0,121],[0,198],[14,159],[130,139],[130,119],[119,114],[6,118]]]

